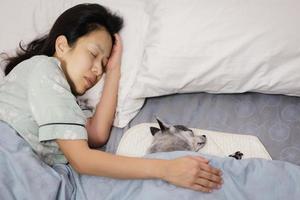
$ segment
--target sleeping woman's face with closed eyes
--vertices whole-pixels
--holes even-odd
[[[75,95],[82,95],[102,77],[110,52],[112,38],[105,29],[80,37],[58,56],[67,80]]]

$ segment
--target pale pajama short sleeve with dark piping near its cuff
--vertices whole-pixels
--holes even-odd
[[[39,125],[39,141],[87,139],[86,117],[55,59],[37,63],[29,78],[30,111]]]

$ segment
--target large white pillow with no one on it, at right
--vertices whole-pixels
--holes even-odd
[[[300,1],[152,0],[133,96],[300,96]]]

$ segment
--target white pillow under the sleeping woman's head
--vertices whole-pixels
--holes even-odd
[[[76,4],[86,2],[83,0],[7,1],[0,7],[2,15],[0,18],[2,26],[0,52],[12,53],[21,40],[27,44],[35,37],[44,35],[63,11]],[[143,40],[149,21],[148,15],[144,11],[144,1],[140,0],[89,0],[88,2],[106,6],[124,18],[124,28],[121,31],[124,44],[122,78],[114,121],[115,126],[123,127],[136,115],[144,103],[144,99],[133,99],[129,93],[142,58]],[[85,102],[88,102],[89,106],[95,107],[101,95],[102,85],[103,80],[79,99],[87,100]]]

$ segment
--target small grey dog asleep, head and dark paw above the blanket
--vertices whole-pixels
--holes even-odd
[[[153,141],[148,148],[148,153],[169,151],[199,151],[206,144],[206,136],[196,136],[191,129],[183,125],[167,125],[156,119],[160,127],[150,127]],[[240,151],[229,155],[237,160],[242,159]]]

